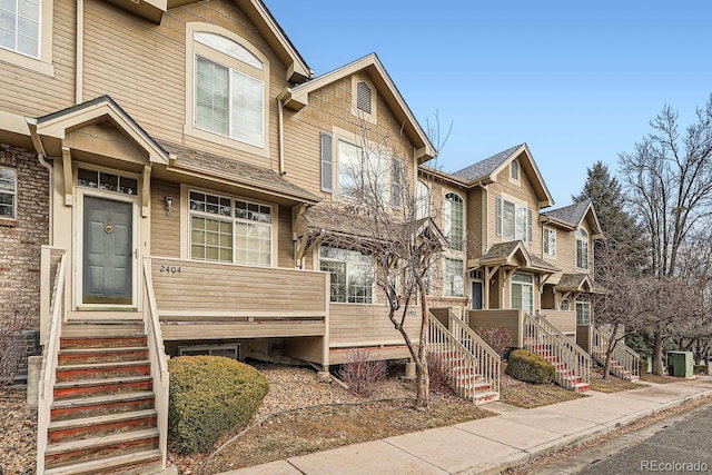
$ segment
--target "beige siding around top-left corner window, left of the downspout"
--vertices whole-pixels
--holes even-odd
[[[0,63],[0,110],[40,117],[75,103],[76,3],[57,0],[53,8],[55,76]]]

